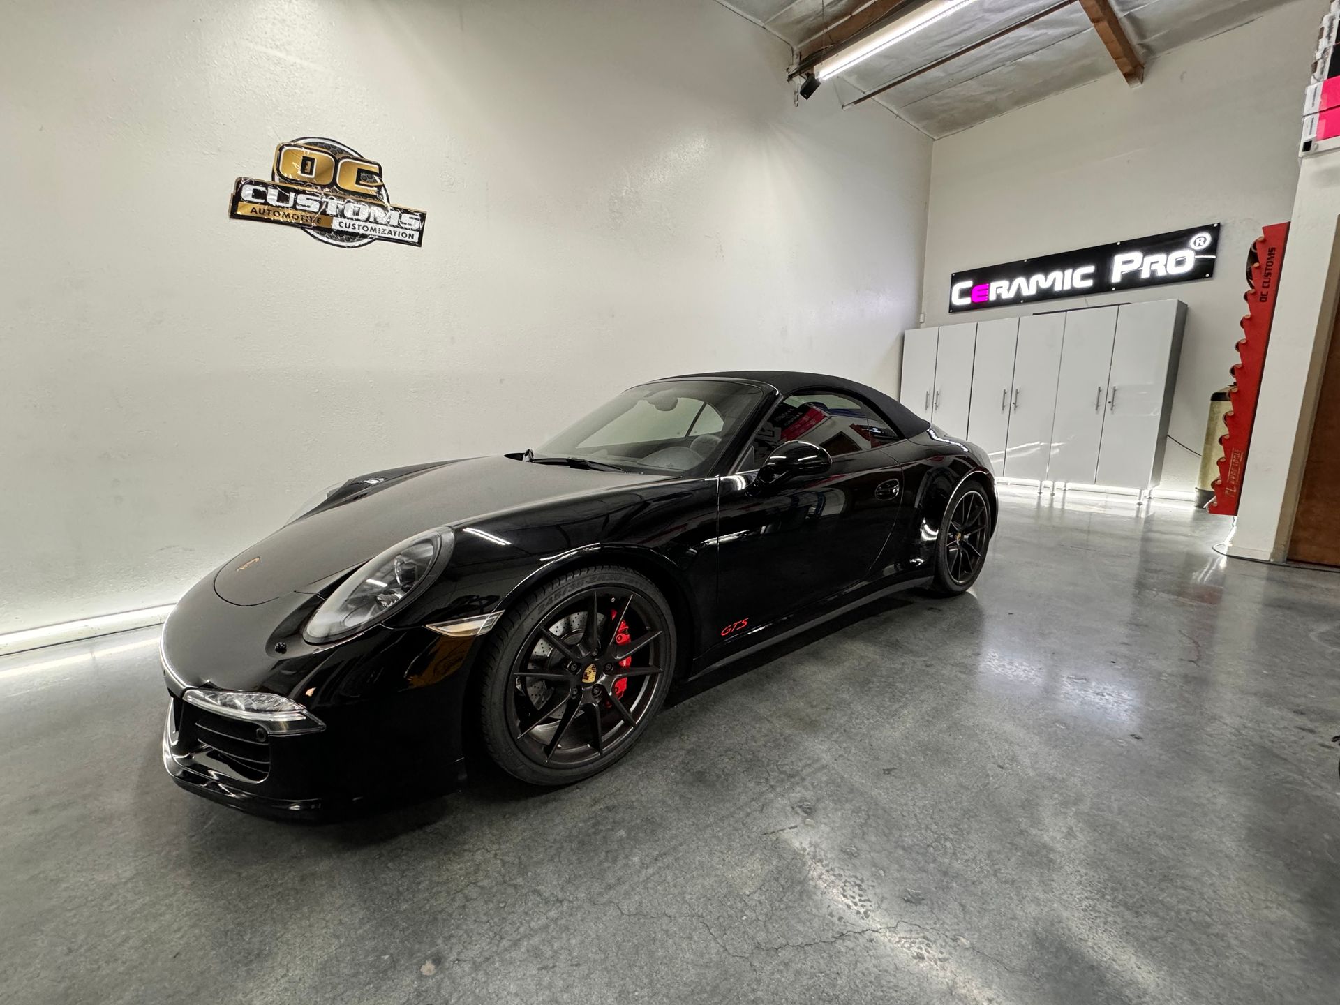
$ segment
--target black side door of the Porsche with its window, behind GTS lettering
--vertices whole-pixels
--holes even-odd
[[[801,614],[863,582],[883,551],[902,489],[891,425],[850,395],[816,389],[780,402],[718,496],[717,610],[725,635]],[[832,466],[764,488],[754,473],[780,444],[821,446]]]

